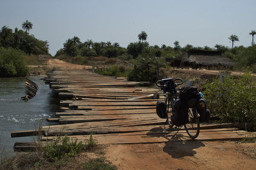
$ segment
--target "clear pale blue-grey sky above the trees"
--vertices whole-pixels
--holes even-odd
[[[173,42],[214,47],[231,46],[228,36],[239,37],[235,45],[248,46],[256,30],[255,0],[0,0],[0,27],[22,29],[49,42],[54,56],[74,36],[81,42],[118,42],[127,47],[145,31],[150,45],[173,47]],[[256,38],[255,38],[256,39]]]

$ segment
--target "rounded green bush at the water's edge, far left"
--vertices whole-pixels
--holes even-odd
[[[26,76],[29,68],[23,56],[20,50],[0,47],[0,77]]]

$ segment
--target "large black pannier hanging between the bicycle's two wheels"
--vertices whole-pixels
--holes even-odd
[[[181,127],[188,121],[188,105],[183,100],[177,99],[174,102],[173,109],[172,123],[177,127]]]

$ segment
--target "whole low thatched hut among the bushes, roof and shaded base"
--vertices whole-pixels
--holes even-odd
[[[227,58],[221,51],[189,50],[171,61],[178,68],[232,69],[234,61]]]

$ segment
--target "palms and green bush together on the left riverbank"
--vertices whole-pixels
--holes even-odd
[[[47,41],[38,40],[34,35],[29,35],[33,24],[26,20],[22,29],[8,26],[0,29],[0,77],[26,76],[28,66],[24,56],[30,54],[49,54]]]

